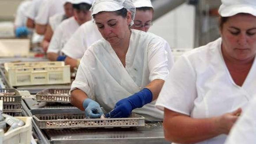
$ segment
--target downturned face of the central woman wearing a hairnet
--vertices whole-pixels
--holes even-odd
[[[95,15],[94,20],[102,37],[111,45],[118,45],[129,32],[131,12],[127,12],[127,17],[115,12],[101,12]]]

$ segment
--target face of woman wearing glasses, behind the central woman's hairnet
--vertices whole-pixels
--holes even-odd
[[[147,32],[152,26],[153,10],[136,10],[132,29]]]

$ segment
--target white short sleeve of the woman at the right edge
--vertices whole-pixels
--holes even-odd
[[[189,60],[181,56],[170,70],[156,106],[190,115],[197,97],[196,74]]]

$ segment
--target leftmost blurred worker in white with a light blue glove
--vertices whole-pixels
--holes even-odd
[[[26,10],[31,6],[31,2],[31,0],[25,0],[18,6],[14,21],[16,37],[27,36],[29,34],[30,30],[26,27]]]

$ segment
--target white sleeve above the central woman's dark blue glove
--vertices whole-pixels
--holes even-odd
[[[159,38],[148,45],[147,63],[150,71],[150,81],[154,79],[166,80],[169,73],[167,55],[164,44]]]

